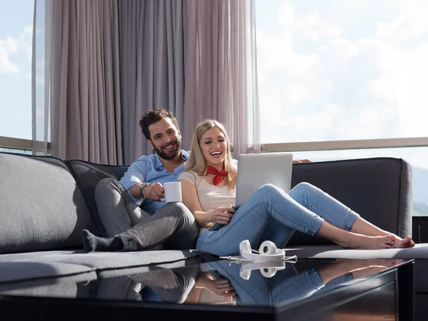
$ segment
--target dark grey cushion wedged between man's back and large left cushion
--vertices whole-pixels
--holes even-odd
[[[73,173],[74,178],[78,184],[78,187],[83,193],[88,208],[91,211],[93,220],[95,221],[98,230],[91,230],[96,235],[106,235],[106,229],[101,222],[98,215],[98,209],[96,208],[94,192],[96,185],[103,178],[116,178],[120,180],[123,173],[128,170],[126,165],[100,165],[89,163],[86,161],[64,161],[67,167]]]

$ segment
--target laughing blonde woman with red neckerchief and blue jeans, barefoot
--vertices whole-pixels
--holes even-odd
[[[225,127],[213,120],[200,123],[178,178],[183,203],[202,228],[197,250],[230,255],[239,252],[242,240],[250,240],[254,248],[271,240],[282,248],[295,230],[327,238],[343,248],[414,246],[409,236],[402,239],[377,228],[309,183],[300,183],[289,193],[263,185],[235,210],[236,173]],[[215,223],[223,226],[212,228]]]

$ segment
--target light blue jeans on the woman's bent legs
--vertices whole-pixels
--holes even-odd
[[[350,230],[358,216],[309,183],[300,183],[289,193],[266,184],[240,205],[227,225],[202,233],[196,250],[231,255],[239,253],[242,240],[249,240],[255,249],[265,240],[282,248],[295,230],[315,235],[324,220],[337,228]]]

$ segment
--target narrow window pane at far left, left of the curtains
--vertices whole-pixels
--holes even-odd
[[[33,1],[3,1],[0,11],[0,136],[31,139]]]

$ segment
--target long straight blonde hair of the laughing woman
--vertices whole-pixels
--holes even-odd
[[[225,168],[227,170],[228,177],[226,185],[230,190],[234,190],[236,187],[236,174],[238,172],[238,167],[236,163],[233,161],[232,155],[230,153],[230,141],[228,132],[226,131],[225,126],[218,121],[214,121],[213,119],[207,119],[202,121],[196,126],[195,131],[193,131],[192,143],[190,145],[190,156],[185,163],[184,170],[190,171],[192,170],[199,175],[205,175],[207,173],[207,163],[205,158],[203,157],[203,153],[200,150],[200,138],[203,136],[211,128],[217,127],[220,131],[223,132],[225,136],[225,140],[227,143],[226,146],[226,155],[225,155]]]

